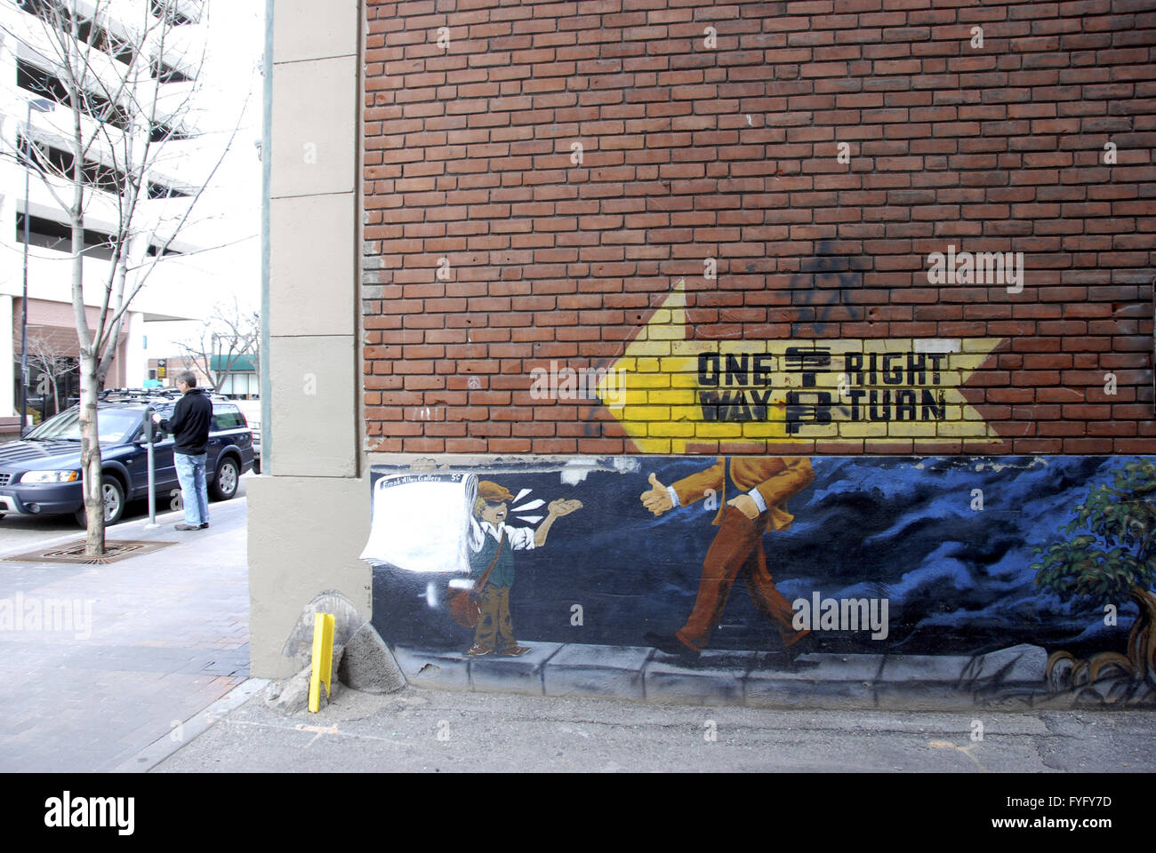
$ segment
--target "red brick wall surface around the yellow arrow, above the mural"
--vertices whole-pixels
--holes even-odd
[[[637,450],[529,371],[613,364],[684,276],[698,340],[1002,340],[999,443],[691,451],[1156,451],[1150,1],[366,6],[369,448]],[[1023,292],[928,284],[949,244]]]

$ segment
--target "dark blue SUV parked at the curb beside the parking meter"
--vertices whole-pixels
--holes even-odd
[[[148,496],[148,442],[143,417],[148,407],[169,417],[176,399],[133,392],[102,392],[97,405],[101,430],[104,522],[114,525],[128,500]],[[165,499],[179,495],[172,459],[172,436],[158,435],[153,445],[155,487]],[[253,436],[240,409],[213,396],[213,424],[206,452],[209,497],[228,500],[237,494],[240,475],[253,467]],[[173,506],[173,509],[176,509]],[[0,444],[0,518],[73,514],[84,526],[81,492],[80,407],[49,418],[20,442]]]

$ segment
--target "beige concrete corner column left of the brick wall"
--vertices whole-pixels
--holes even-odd
[[[249,487],[255,676],[302,608],[335,591],[370,615],[361,477],[358,0],[275,0],[269,222],[272,454]]]

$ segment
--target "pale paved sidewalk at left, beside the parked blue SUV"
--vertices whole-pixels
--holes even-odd
[[[108,565],[0,562],[9,607],[90,613],[68,630],[25,620],[0,631],[0,771],[112,770],[244,682],[246,517],[238,497],[212,504],[207,531],[178,533],[179,512],[154,531],[147,519],[117,525],[109,540],[175,544]],[[29,550],[5,548],[0,558]]]

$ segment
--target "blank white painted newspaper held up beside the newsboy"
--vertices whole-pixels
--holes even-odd
[[[402,474],[373,485],[373,520],[361,558],[410,572],[469,571],[473,474]]]

